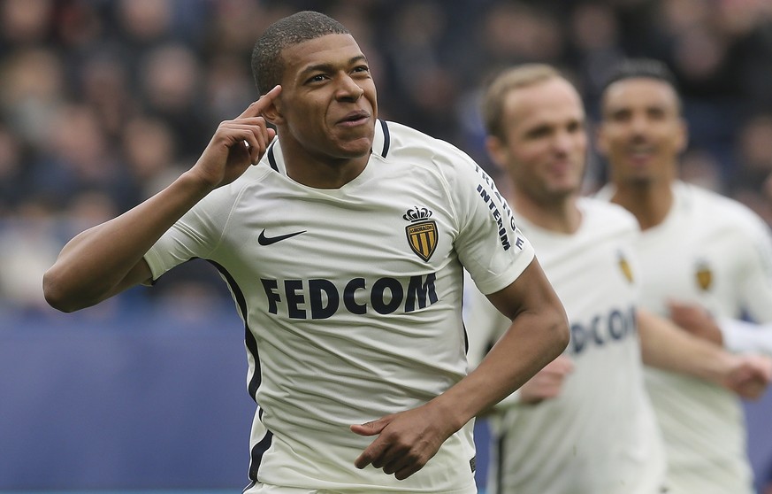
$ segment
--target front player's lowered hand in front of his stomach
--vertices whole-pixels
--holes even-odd
[[[423,468],[455,432],[447,416],[432,403],[386,415],[377,421],[355,424],[351,430],[360,436],[378,436],[355,460],[355,467],[382,468],[386,475],[394,474],[397,480],[404,480]]]

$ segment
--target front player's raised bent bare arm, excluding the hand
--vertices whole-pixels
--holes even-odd
[[[76,235],[43,276],[46,300],[73,312],[128,288],[122,283],[142,256],[210,190],[192,174],[182,174],[141,205]]]

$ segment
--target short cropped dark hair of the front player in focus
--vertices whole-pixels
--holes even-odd
[[[284,74],[281,52],[288,46],[325,35],[350,35],[340,22],[320,12],[302,11],[279,19],[267,29],[252,50],[252,75],[264,95],[279,84]]]

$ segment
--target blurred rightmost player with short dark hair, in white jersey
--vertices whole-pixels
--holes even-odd
[[[668,315],[675,301],[699,305],[719,320],[748,313],[770,322],[768,228],[745,206],[676,180],[687,129],[673,81],[658,61],[630,60],[601,98],[598,145],[611,185],[600,196],[630,210],[643,229],[643,306]],[[656,370],[646,383],[667,444],[672,492],[753,492],[738,398],[709,382]]]

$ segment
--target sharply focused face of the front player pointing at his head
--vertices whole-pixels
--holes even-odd
[[[350,35],[325,35],[288,47],[272,120],[296,146],[320,159],[369,155],[378,116],[367,59]]]

